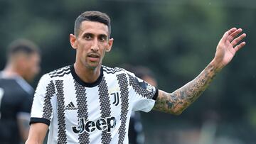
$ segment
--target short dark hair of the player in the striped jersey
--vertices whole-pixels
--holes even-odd
[[[105,24],[109,30],[109,36],[110,36],[110,33],[111,33],[110,16],[107,16],[106,13],[102,13],[100,11],[85,11],[84,13],[80,14],[80,16],[78,16],[78,18],[75,19],[75,26],[74,26],[75,36],[79,35],[80,25],[82,21],[95,21],[95,22]]]

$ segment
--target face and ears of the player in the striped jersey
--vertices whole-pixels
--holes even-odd
[[[70,34],[70,43],[76,52],[76,62],[86,68],[95,69],[102,65],[105,52],[109,52],[113,39],[109,38],[108,27],[103,23],[83,21],[78,37]]]

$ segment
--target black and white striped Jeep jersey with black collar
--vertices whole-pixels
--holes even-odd
[[[74,67],[44,74],[31,109],[31,123],[46,123],[48,143],[128,143],[132,111],[150,111],[155,87],[121,68],[101,67],[94,83],[83,82]]]

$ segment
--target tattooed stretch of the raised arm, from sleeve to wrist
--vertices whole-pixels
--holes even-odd
[[[206,90],[217,72],[218,69],[210,64],[198,77],[175,92],[169,94],[159,90],[159,96],[156,99],[154,109],[167,113],[180,114]]]

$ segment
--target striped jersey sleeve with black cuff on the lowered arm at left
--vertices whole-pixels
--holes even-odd
[[[48,74],[41,77],[36,88],[35,96],[31,109],[30,123],[46,123],[50,125],[53,118],[53,96],[55,95],[55,86]]]

